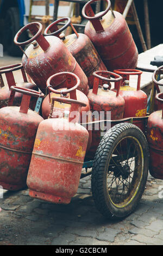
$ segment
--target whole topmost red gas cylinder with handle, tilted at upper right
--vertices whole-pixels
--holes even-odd
[[[122,14],[111,10],[109,0],[104,0],[108,4],[105,11],[95,15],[91,4],[96,1],[91,0],[83,7],[82,14],[89,20],[84,33],[93,42],[108,70],[135,69],[138,51],[126,20]]]

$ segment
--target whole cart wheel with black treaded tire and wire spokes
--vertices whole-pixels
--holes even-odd
[[[142,197],[148,176],[148,144],[133,124],[121,123],[105,133],[92,167],[96,208],[107,218],[124,218]]]

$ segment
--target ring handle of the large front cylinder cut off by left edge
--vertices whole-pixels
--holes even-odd
[[[22,93],[23,96],[22,96],[22,101],[21,101],[21,106],[20,106],[20,112],[25,113],[25,114],[27,114],[27,112],[28,112],[31,96],[41,97],[41,98],[43,98],[45,96],[43,93],[39,93],[35,90],[28,89],[28,88],[22,88],[22,87],[18,87],[18,86],[11,86],[10,90],[11,90],[11,94],[9,97],[8,106],[12,106],[16,92]]]

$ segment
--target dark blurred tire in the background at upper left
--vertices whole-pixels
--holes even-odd
[[[3,28],[4,50],[7,51],[10,56],[20,57],[23,55],[23,52],[14,43],[14,37],[20,28],[19,10],[17,7],[10,7],[5,14]],[[26,33],[22,33],[20,37],[20,41],[27,40]]]

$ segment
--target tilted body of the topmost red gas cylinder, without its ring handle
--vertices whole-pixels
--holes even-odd
[[[90,22],[85,27],[85,34],[95,45],[106,68],[114,69],[136,68],[138,51],[126,20],[120,13],[114,11],[115,19],[110,24],[110,11],[103,16],[101,22],[104,31],[96,32]],[[108,23],[108,26],[107,26]]]

